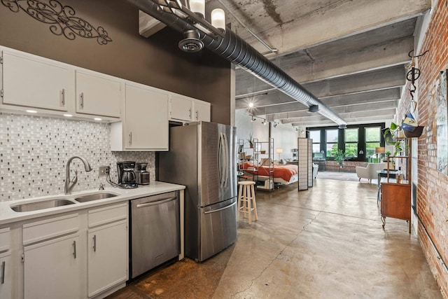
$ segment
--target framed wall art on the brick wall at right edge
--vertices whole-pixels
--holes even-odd
[[[447,70],[440,72],[435,100],[437,103],[437,170],[448,175]]]

